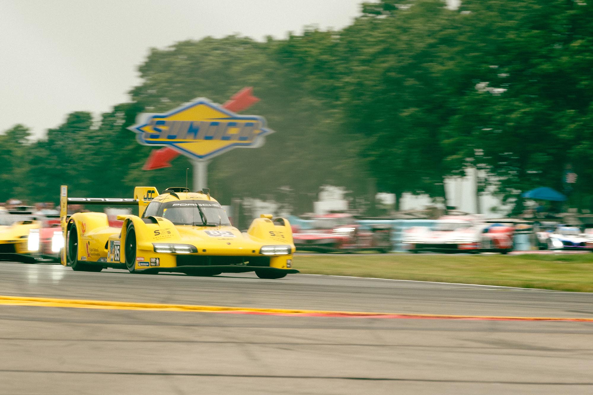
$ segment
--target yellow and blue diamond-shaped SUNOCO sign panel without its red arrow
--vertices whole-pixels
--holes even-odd
[[[141,114],[128,128],[144,145],[166,145],[190,157],[213,157],[235,147],[256,148],[273,132],[260,116],[238,115],[205,98],[164,114]]]

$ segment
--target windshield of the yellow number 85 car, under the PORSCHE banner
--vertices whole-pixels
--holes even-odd
[[[231,225],[227,213],[216,202],[201,200],[179,200],[164,203],[158,216],[167,218],[175,225],[211,226]]]

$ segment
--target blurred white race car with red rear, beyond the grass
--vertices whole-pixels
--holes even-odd
[[[403,243],[410,252],[443,253],[499,252],[513,249],[514,228],[502,224],[485,224],[470,218],[445,217],[434,227],[410,228]]]

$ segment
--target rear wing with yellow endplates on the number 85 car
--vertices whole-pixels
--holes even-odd
[[[68,205],[103,205],[103,206],[135,206],[138,205],[139,215],[153,198],[158,196],[155,187],[135,187],[134,198],[68,198],[68,186],[60,186],[60,225],[64,238],[64,247],[60,252],[60,261],[66,265],[66,219],[68,217]]]

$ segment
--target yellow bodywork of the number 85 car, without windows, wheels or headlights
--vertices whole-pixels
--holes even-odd
[[[146,191],[148,191],[148,194]],[[151,191],[154,192],[154,198],[150,198]],[[65,199],[65,193],[62,192],[62,195],[62,199]],[[157,190],[154,187],[136,187],[134,198],[138,199],[141,214],[145,211],[148,203],[151,202],[168,203],[179,200],[192,200],[218,203],[209,194],[199,192],[156,195]],[[267,265],[267,259],[269,258],[269,266],[267,267],[287,269],[286,272],[292,273],[298,272],[297,270],[290,270],[295,246],[292,240],[291,226],[288,220],[284,218],[273,221],[271,215],[262,215],[262,218],[254,219],[247,232],[241,232],[237,228],[228,225],[176,225],[161,216],[141,218],[141,216],[137,215],[118,215],[117,219],[123,220],[121,228],[110,227],[107,215],[101,212],[80,212],[73,214],[68,219],[64,230],[66,233],[72,229],[72,225],[76,226],[79,262],[104,263],[105,267],[125,265],[126,232],[132,225],[136,240],[133,271],[146,269],[152,269],[153,271],[183,271],[171,270],[180,266],[178,265],[180,259],[185,260],[185,265],[187,265],[187,260],[207,259],[208,262],[217,262],[216,265],[219,267],[221,265],[246,266],[250,265],[250,263],[246,262],[253,263],[256,261],[266,262]],[[189,245],[195,247],[195,252],[157,253],[155,252],[155,243]],[[264,255],[260,253],[263,246],[289,246],[289,253]],[[286,248],[288,249],[288,247]],[[180,256],[184,257],[180,258]],[[241,263],[243,261],[244,263]],[[66,265],[65,259],[62,259],[62,264]],[[212,265],[214,264],[212,263]],[[195,265],[192,267],[195,267]],[[236,269],[236,267],[229,267],[229,269]],[[240,269],[240,271],[251,271],[246,270],[247,268],[244,269]],[[255,269],[256,267],[253,270]],[[222,272],[225,271],[227,270],[222,269]]]

